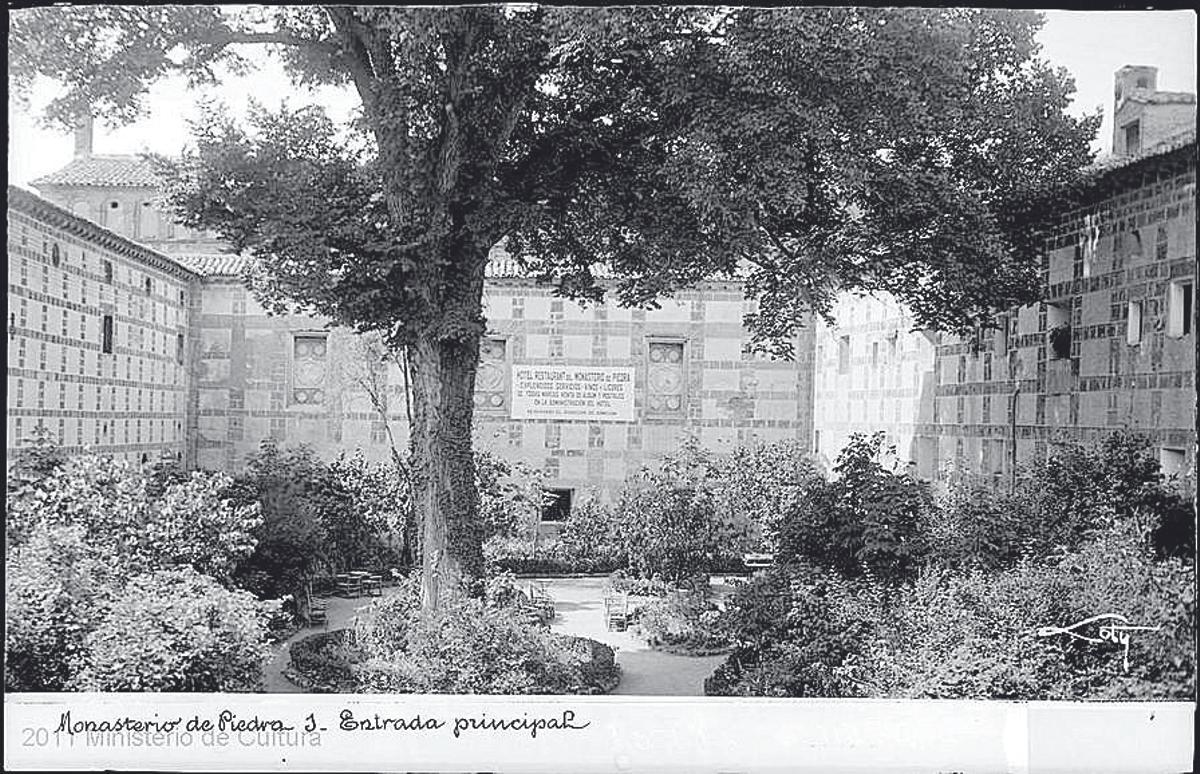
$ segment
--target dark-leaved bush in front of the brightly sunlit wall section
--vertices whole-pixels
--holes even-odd
[[[854,434],[833,481],[815,480],[780,524],[779,559],[828,566],[847,577],[912,577],[928,552],[929,486],[881,463],[883,434]]]

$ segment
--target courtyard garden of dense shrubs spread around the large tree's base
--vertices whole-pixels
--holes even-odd
[[[5,685],[254,691],[289,640],[308,691],[608,692],[620,654],[551,625],[529,580],[590,574],[610,628],[719,656],[708,695],[1192,697],[1194,514],[1146,442],[937,491],[887,451],[859,436],[822,470],[797,443],[689,442],[556,535],[540,474],[476,454],[488,577],[430,610],[394,463],[266,442],[230,478],[37,443],[8,472]],[[748,553],[773,563],[748,574]],[[348,570],[390,588],[305,629]]]

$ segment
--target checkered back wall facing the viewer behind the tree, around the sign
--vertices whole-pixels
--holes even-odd
[[[612,494],[641,464],[694,434],[718,451],[811,436],[811,330],[796,362],[743,352],[737,283],[682,293],[659,310],[578,304],[515,278],[485,292],[475,440],[546,472],[547,485]],[[403,373],[378,343],[311,317],[268,317],[234,278],[206,280],[193,316],[192,458],[236,469],[260,440],[322,456],[407,446]],[[631,367],[632,421],[512,419],[520,365]]]

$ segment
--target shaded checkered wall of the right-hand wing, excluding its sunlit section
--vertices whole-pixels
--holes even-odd
[[[1194,143],[1098,176],[1045,240],[1045,300],[937,347],[918,432],[935,467],[1002,478],[1055,442],[1128,428],[1169,472],[1194,468],[1195,194]]]

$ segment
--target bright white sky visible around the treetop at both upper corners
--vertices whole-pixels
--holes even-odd
[[[1075,78],[1072,113],[1104,110],[1104,124],[1093,150],[1108,151],[1112,133],[1112,74],[1124,65],[1159,68],[1158,88],[1164,91],[1196,91],[1196,14],[1190,11],[1046,11],[1039,34],[1042,55],[1066,67]],[[28,184],[71,161],[71,134],[42,128],[35,114],[53,96],[54,85],[40,84],[29,108],[8,101],[8,181]],[[149,98],[150,114],[139,122],[109,128],[97,121],[96,154],[151,151],[175,155],[188,142],[187,120],[198,115],[197,100],[217,97],[235,113],[244,112],[253,96],[277,108],[287,98],[292,107],[319,102],[336,118],[348,116],[354,95],[335,89],[298,91],[282,67],[264,61],[253,76],[223,82],[220,86],[188,91],[180,83],[156,86]]]

